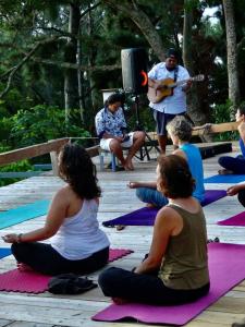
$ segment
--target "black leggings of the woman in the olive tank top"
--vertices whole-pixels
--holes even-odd
[[[194,302],[206,295],[210,284],[195,290],[167,288],[157,276],[143,275],[121,268],[109,268],[99,276],[99,286],[106,296],[157,305]]]

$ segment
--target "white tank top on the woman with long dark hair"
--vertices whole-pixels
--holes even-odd
[[[66,259],[79,261],[109,246],[106,233],[99,229],[97,213],[98,203],[84,199],[79,211],[65,218],[51,238],[52,247]]]

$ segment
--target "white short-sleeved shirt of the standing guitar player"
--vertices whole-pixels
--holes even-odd
[[[176,82],[188,80],[189,74],[185,68],[177,65]],[[164,62],[156,64],[148,73],[151,80],[174,80],[174,70],[168,71]],[[149,107],[164,113],[177,114],[186,111],[186,94],[182,90],[183,85],[173,88],[173,95],[166,97],[158,104],[149,104]]]

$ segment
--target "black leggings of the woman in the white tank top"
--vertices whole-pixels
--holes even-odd
[[[65,272],[89,274],[106,266],[109,258],[109,247],[79,261],[66,259],[50,244],[40,242],[13,243],[11,250],[19,263],[26,264],[36,271],[51,276]]]

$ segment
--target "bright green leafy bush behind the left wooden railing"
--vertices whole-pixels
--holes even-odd
[[[89,136],[89,133],[77,124],[78,114],[78,110],[74,109],[65,122],[65,112],[58,107],[39,105],[29,110],[19,110],[9,119],[12,145],[16,148],[65,136]]]

